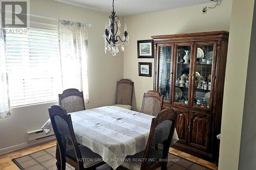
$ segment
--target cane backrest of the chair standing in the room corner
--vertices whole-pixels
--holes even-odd
[[[117,82],[116,104],[132,106],[133,86],[134,83],[128,79]]]

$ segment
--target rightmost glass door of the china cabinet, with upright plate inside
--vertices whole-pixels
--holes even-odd
[[[195,66],[193,79],[193,105],[205,109],[211,108],[214,81],[216,44],[197,43],[195,46]]]

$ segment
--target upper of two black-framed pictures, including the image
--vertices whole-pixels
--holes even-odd
[[[154,40],[137,41],[138,58],[154,58]]]

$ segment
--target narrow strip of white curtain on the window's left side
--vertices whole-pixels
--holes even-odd
[[[0,32],[0,118],[10,116],[10,99],[8,94],[8,76],[5,58],[5,40]]]

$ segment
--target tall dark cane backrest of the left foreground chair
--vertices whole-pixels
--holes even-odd
[[[81,153],[76,141],[71,116],[59,105],[53,105],[48,109],[52,128],[57,138],[60,150],[61,162],[66,162],[66,157],[77,162],[83,167]]]

